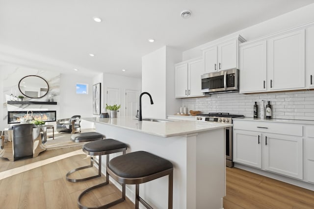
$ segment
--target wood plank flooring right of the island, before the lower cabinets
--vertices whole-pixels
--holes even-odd
[[[238,168],[226,168],[225,209],[314,209],[314,191]]]

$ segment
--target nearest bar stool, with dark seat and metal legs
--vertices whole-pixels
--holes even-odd
[[[136,184],[135,209],[139,208],[139,202],[146,208],[152,209],[139,196],[139,184],[168,175],[168,209],[172,209],[173,165],[169,160],[145,151],[132,152],[111,159],[107,165],[107,173],[123,185]]]

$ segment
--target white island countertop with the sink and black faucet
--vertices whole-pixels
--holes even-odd
[[[105,124],[109,126],[120,127],[132,131],[143,132],[160,137],[185,135],[190,133],[210,131],[214,129],[221,129],[232,126],[232,124],[197,121],[168,121],[168,122],[138,121],[137,119],[128,117],[118,118],[95,117],[95,118],[82,118],[82,120]]]

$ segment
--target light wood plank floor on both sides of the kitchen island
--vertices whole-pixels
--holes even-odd
[[[19,167],[34,160],[42,160],[78,147],[43,152],[38,158],[15,162],[0,160],[0,172]],[[0,180],[0,208],[2,209],[77,209],[77,197],[87,187],[105,182],[97,178],[70,183],[66,173],[73,168],[89,164],[85,155],[77,155]],[[237,168],[227,169],[227,196],[225,209],[314,209],[314,191],[282,183]],[[79,171],[73,178],[97,173],[95,168]],[[88,193],[82,203],[95,207],[120,197],[120,191],[109,184]],[[112,209],[133,209],[128,199]]]

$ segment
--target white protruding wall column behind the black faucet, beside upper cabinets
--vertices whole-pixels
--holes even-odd
[[[142,116],[166,118],[177,112],[181,100],[175,99],[175,63],[181,61],[182,52],[164,46],[142,57],[142,90],[152,95],[142,97]]]

